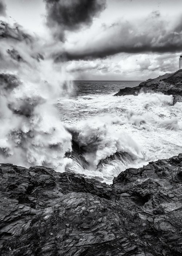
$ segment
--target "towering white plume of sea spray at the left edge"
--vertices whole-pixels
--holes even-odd
[[[54,105],[71,90],[64,64],[17,25],[1,22],[0,32],[0,162],[64,170],[71,135]]]

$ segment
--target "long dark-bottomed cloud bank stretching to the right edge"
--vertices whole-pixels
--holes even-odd
[[[64,52],[67,60],[88,60],[104,58],[116,53],[146,53],[146,52],[180,52],[182,50],[182,19],[169,28],[169,24],[161,19],[153,19],[153,13],[143,23],[116,23],[105,28],[92,40],[86,40],[82,46]],[[83,39],[82,39],[83,40]],[[63,54],[57,54],[55,61],[60,61]]]

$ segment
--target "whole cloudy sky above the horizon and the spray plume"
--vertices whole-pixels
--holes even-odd
[[[66,61],[75,80],[145,80],[178,69],[181,0],[1,1],[8,22],[54,38],[55,62]]]

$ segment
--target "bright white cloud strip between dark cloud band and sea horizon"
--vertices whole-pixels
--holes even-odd
[[[146,80],[178,69],[178,54],[118,54],[95,61],[69,61],[67,72],[78,80]]]

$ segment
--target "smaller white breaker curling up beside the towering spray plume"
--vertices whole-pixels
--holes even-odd
[[[132,159],[142,158],[138,144],[126,132],[113,126],[113,123],[117,123],[116,118],[104,116],[67,127],[73,140],[83,148],[90,169],[95,170],[100,160],[116,152],[128,153]]]

